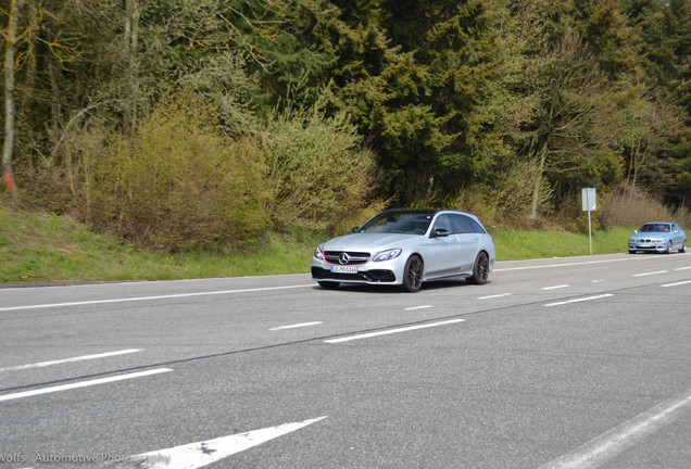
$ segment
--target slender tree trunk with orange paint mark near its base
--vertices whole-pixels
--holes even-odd
[[[16,193],[14,174],[12,173],[12,154],[14,150],[14,54],[16,52],[16,29],[20,22],[20,10],[24,0],[10,0],[10,17],[4,54],[4,145],[2,148],[2,177],[8,190]]]

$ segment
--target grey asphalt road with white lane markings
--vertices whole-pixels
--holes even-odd
[[[0,289],[0,468],[688,469],[690,319],[676,253]]]

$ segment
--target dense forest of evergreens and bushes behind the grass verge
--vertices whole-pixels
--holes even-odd
[[[0,201],[135,243],[691,203],[691,0],[2,0],[0,31]]]

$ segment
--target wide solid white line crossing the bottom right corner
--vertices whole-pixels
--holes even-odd
[[[681,397],[667,401],[639,414],[575,451],[541,466],[540,469],[595,468],[656,432],[689,408],[691,408],[691,389],[688,389]]]

